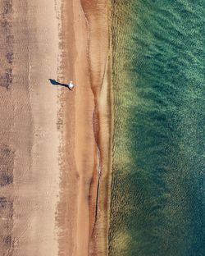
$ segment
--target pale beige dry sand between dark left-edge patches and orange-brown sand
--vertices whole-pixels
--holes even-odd
[[[59,107],[58,89],[48,83],[57,76],[55,2],[13,0],[12,10],[13,80],[11,89],[1,88],[1,128],[9,130],[5,144],[14,152],[13,184],[0,189],[13,211],[11,239],[0,254],[7,245],[5,255],[57,256]]]

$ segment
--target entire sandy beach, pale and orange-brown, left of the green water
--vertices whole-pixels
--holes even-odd
[[[1,252],[107,255],[107,1],[4,0],[0,8]]]

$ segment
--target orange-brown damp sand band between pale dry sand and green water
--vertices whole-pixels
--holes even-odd
[[[62,89],[60,119],[66,130],[62,128],[59,255],[107,255],[112,135],[107,2],[81,2],[62,6],[62,80],[77,86],[72,93]]]

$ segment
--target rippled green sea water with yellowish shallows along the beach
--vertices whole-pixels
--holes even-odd
[[[110,256],[205,255],[204,11],[112,0]]]

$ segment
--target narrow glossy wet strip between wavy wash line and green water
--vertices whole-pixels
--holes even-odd
[[[112,85],[111,48],[109,48],[109,2],[82,0],[89,26],[90,84],[95,109],[93,126],[99,150],[98,201],[90,255],[108,254],[108,228],[112,169]]]

